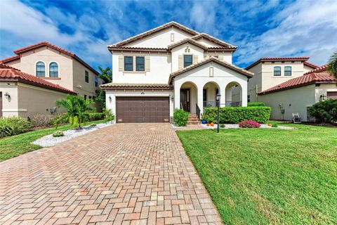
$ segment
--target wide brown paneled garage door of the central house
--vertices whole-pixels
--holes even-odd
[[[117,97],[117,122],[169,122],[169,97]]]

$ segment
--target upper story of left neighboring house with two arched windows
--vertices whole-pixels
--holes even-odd
[[[103,80],[98,78],[99,72],[84,60],[47,41],[15,50],[14,53],[16,56],[0,62],[77,92],[84,98],[94,98],[95,90],[103,84]]]

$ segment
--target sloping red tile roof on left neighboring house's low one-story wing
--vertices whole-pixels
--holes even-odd
[[[65,89],[64,87],[58,84],[52,84],[51,82],[47,82],[40,77],[35,77],[33,75],[29,75],[21,70],[16,68],[12,68],[9,65],[4,63],[0,63],[0,81],[18,81],[25,84],[31,84],[33,86],[40,86],[46,89],[51,89],[54,91],[60,91],[67,94],[77,94],[74,91],[69,89]]]

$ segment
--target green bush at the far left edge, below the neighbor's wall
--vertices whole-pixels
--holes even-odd
[[[25,133],[30,127],[30,122],[22,117],[0,118],[0,138]]]

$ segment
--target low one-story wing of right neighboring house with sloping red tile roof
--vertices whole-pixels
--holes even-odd
[[[272,108],[272,120],[291,120],[299,113],[303,121],[313,121],[309,108],[327,98],[337,99],[337,86],[326,65],[258,92],[258,101]]]

